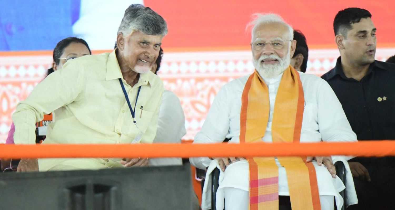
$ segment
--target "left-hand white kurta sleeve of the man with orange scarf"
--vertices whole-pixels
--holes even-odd
[[[207,118],[194,143],[220,143],[229,132],[229,112],[231,102],[228,101],[227,85],[222,87],[211,104]],[[189,158],[192,165],[206,169],[211,160],[208,157]]]

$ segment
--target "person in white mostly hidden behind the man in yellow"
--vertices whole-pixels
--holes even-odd
[[[163,49],[160,48],[159,56],[151,71],[156,74],[162,61]],[[180,99],[173,92],[165,90],[162,94],[162,105],[160,105],[158,128],[153,143],[181,143],[185,136],[185,116],[181,107]],[[150,158],[152,166],[182,165],[181,158]]]

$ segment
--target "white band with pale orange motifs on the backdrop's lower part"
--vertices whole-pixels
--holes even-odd
[[[379,48],[376,59],[385,60],[394,52],[395,48]],[[324,74],[338,56],[337,50],[310,50],[307,73]],[[51,55],[0,57],[0,143],[7,137],[15,106],[43,79],[51,61]],[[187,130],[184,139],[193,139],[199,131],[222,85],[252,71],[250,51],[166,53],[158,74],[165,88],[181,100]]]

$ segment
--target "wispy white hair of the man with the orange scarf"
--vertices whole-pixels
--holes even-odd
[[[280,15],[277,14],[273,14],[273,13],[267,13],[267,14],[261,14],[261,13],[255,13],[252,15],[252,21],[250,23],[247,24],[246,28],[249,28],[251,26],[254,26],[252,28],[252,33],[251,33],[251,42],[252,37],[254,36],[254,33],[256,31],[256,29],[258,28],[258,26],[260,26],[261,24],[266,24],[266,23],[281,23],[287,26],[288,28],[288,32],[290,35],[290,40],[293,40],[293,28],[290,24],[286,23],[284,21],[284,19],[282,19],[282,17],[280,17]]]

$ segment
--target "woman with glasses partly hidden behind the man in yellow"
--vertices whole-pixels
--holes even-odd
[[[67,37],[66,39],[62,39],[58,44],[56,44],[55,49],[53,50],[52,58],[52,68],[48,69],[47,75],[51,74],[54,71],[62,69],[63,65],[70,59],[79,58],[81,56],[86,56],[92,54],[90,52],[90,48],[88,43],[76,37]],[[47,126],[52,121],[52,113],[48,115],[44,115],[44,119],[38,123],[36,123],[37,127]],[[36,134],[40,136],[38,133],[40,129],[36,130]],[[15,132],[15,126],[12,123],[11,129],[8,132],[8,137],[6,140],[6,144],[14,144],[13,134]],[[43,138],[38,138],[36,141],[40,143]],[[2,171],[13,171],[13,167],[11,167],[11,160],[1,160],[1,169]],[[16,167],[15,167],[16,170]]]

